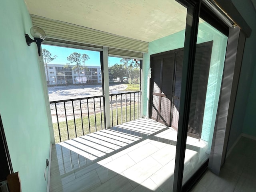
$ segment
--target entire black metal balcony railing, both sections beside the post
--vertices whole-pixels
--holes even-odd
[[[140,117],[141,92],[110,94],[112,126]],[[55,142],[106,128],[104,95],[50,102]]]

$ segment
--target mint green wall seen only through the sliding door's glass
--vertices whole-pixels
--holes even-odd
[[[218,101],[220,96],[220,87],[222,82],[228,37],[216,30],[207,22],[199,24],[197,44],[212,40],[212,56],[201,134],[202,140],[209,142],[209,149],[212,143],[213,130],[218,110]]]

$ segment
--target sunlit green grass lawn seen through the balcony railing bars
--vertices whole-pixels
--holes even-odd
[[[134,111],[134,104],[132,103],[131,106],[127,105],[127,107],[122,106],[122,121],[121,121],[121,106],[118,106],[117,109],[117,117],[116,118],[116,107],[113,105],[113,112],[111,112],[111,106],[110,106],[110,126],[112,126],[112,114],[113,114],[113,126],[118,124],[121,124],[122,122],[126,122],[130,120],[137,119],[140,117],[140,114],[138,114],[138,103],[135,104],[135,111]],[[127,114],[125,114],[127,108]],[[131,116],[130,116],[130,111],[131,111]],[[135,117],[134,117],[135,114]],[[68,139],[76,138],[88,133],[95,132],[96,130],[101,130],[104,129],[104,114],[102,111],[102,115],[100,113],[96,114],[96,126],[95,126],[95,117],[94,115],[89,116],[90,121],[88,121],[88,116],[83,116],[83,118],[77,118],[75,119],[76,123],[76,132],[75,132],[75,124],[74,120],[68,120],[68,131],[67,131],[67,126],[66,126],[66,121],[59,122],[60,126],[60,136],[61,136],[61,141],[66,141]],[[83,121],[83,128],[84,128],[84,134],[82,131],[82,121]],[[90,122],[90,128],[89,128],[89,122]],[[101,126],[102,124],[102,126]],[[58,131],[58,124],[53,123],[53,130],[54,130],[54,138],[55,142],[59,143],[60,142],[60,136],[59,136],[59,131]],[[68,138],[69,135],[69,138]]]

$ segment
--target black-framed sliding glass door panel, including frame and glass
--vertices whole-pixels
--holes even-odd
[[[208,165],[229,30],[205,4],[187,5],[173,185],[177,192],[188,190],[198,170]]]

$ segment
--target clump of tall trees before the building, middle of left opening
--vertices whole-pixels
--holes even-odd
[[[80,54],[77,52],[73,52],[72,54],[70,54],[67,57],[67,60],[70,63],[74,63],[75,65],[72,67],[73,70],[77,70],[78,71],[78,78],[80,79],[80,70],[84,70],[84,76],[85,76],[85,71],[87,71],[87,67],[86,66],[82,66],[81,62],[83,64],[85,64],[85,61],[87,61],[88,59],[90,59],[90,57],[86,54]],[[65,68],[70,67],[70,64],[67,63],[65,66]]]

